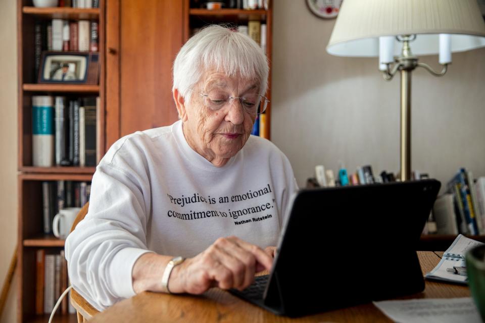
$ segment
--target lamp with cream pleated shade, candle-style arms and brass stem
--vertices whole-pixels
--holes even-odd
[[[452,52],[483,46],[485,23],[477,0],[344,0],[327,52],[379,57],[388,81],[401,73],[401,181],[411,179],[411,72],[422,67],[442,76]],[[415,56],[437,53],[439,72]]]

